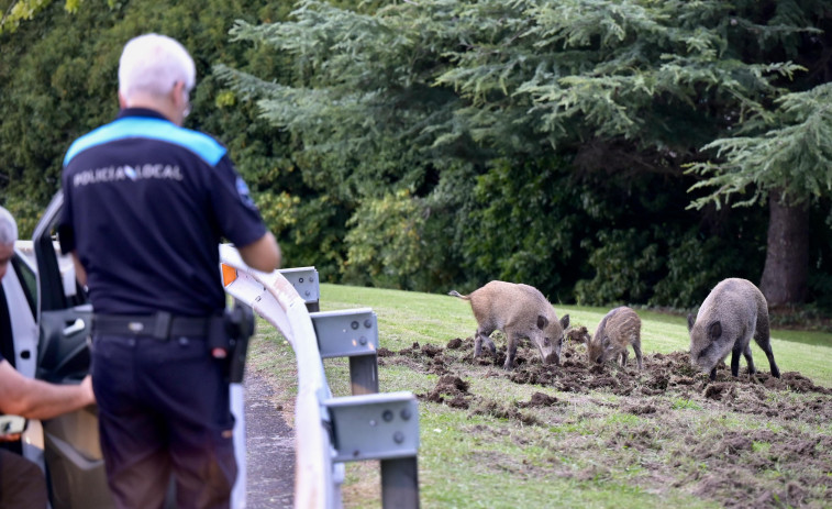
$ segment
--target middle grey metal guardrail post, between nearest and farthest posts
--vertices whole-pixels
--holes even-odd
[[[353,396],[378,392],[378,319],[369,308],[310,313],[321,358],[350,357]]]

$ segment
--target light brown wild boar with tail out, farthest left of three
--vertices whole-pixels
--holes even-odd
[[[544,364],[561,364],[564,330],[569,327],[569,316],[561,320],[555,309],[536,288],[506,281],[491,281],[472,291],[468,296],[451,290],[448,295],[469,300],[477,319],[474,334],[474,356],[482,353],[482,342],[491,352],[497,348],[491,341],[493,331],[508,336],[509,348],[503,368],[511,369],[521,338],[528,338],[540,351]]]

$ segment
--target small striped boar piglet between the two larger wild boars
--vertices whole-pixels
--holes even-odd
[[[586,329],[584,329],[586,331]],[[642,368],[642,321],[632,309],[622,306],[607,313],[601,319],[595,335],[585,334],[589,364],[603,364],[609,359],[626,366],[626,358],[632,345],[635,363]]]

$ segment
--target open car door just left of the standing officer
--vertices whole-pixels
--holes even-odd
[[[60,256],[54,233],[64,196],[58,192],[35,229],[37,263],[36,377],[79,384],[89,372],[92,307],[75,277],[69,256]],[[53,509],[114,507],[107,488],[98,436],[98,412],[87,407],[43,422],[44,460]]]

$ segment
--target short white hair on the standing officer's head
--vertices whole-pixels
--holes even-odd
[[[131,38],[119,60],[119,92],[130,99],[136,92],[164,96],[177,81],[190,91],[197,81],[193,58],[178,41],[159,34]]]

